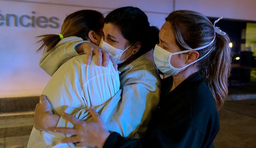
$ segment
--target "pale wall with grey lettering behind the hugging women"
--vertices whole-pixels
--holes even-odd
[[[41,94],[50,77],[38,66],[42,53],[35,52],[39,48],[35,44],[35,37],[60,33],[67,14],[80,9],[95,9],[105,13],[115,7],[133,5],[146,12],[151,25],[161,27],[165,16],[172,11],[169,7],[172,8],[173,3],[169,1],[171,3],[167,0],[0,0],[0,98]],[[12,17],[8,25],[7,15],[16,15],[17,25]],[[48,21],[51,17],[58,18],[55,22],[59,27],[51,28],[49,25],[55,26],[51,22],[34,23],[42,16]],[[20,17],[24,18],[21,24]],[[24,27],[26,25],[28,27]]]

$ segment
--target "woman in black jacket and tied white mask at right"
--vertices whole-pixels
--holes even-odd
[[[171,77],[162,81],[160,103],[143,138],[129,140],[109,132],[93,108],[90,113],[94,122],[65,114],[76,124],[76,130],[55,131],[87,139],[83,145],[104,148],[213,148],[220,128],[217,110],[228,94],[232,54],[228,35],[215,23],[201,13],[187,10],[173,11],[166,18],[160,29],[160,44],[154,49],[154,60]],[[62,142],[75,140],[68,138]]]

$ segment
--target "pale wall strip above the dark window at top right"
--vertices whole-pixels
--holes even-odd
[[[256,21],[256,0],[175,0],[175,9],[198,11],[209,17]]]

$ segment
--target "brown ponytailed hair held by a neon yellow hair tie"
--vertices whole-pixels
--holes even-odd
[[[102,13],[95,10],[80,10],[68,15],[61,27],[61,34],[63,37],[80,37],[83,40],[88,39],[89,31],[93,30],[96,33],[102,33],[104,26],[104,16]],[[37,43],[42,43],[37,52],[44,49],[48,52],[56,46],[61,40],[59,35],[40,35],[37,38],[41,38]]]

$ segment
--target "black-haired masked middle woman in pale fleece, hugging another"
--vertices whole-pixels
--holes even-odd
[[[120,90],[113,98],[95,108],[100,112],[109,131],[118,132],[126,137],[140,138],[145,133],[152,111],[156,109],[160,98],[160,79],[154,64],[152,49],[159,42],[159,30],[150,26],[147,15],[139,8],[121,7],[106,16],[103,32],[104,38],[101,39],[99,46],[106,51],[102,48],[96,50],[102,50],[100,54],[109,53],[113,57],[111,58],[113,62],[117,62],[121,83]],[[78,51],[83,50],[84,44],[80,44],[82,42],[85,41],[77,38],[74,42],[67,42],[61,48],[57,47],[54,51],[45,53],[40,60],[41,68],[49,75],[53,75],[65,61],[79,55],[74,47]],[[89,46],[94,47],[94,44]],[[96,53],[99,54],[99,52]],[[87,57],[89,55],[87,54]],[[67,102],[73,99],[76,98],[67,98]],[[94,99],[98,100],[98,98]],[[91,101],[93,102],[94,99]],[[70,107],[65,110],[66,113],[83,120],[87,118],[87,111]],[[44,115],[40,113],[37,108],[34,116],[35,128],[49,130],[52,125],[67,127],[68,121],[64,116],[55,120],[56,116],[52,117],[51,112],[42,113]],[[49,120],[47,122],[44,118],[54,118],[51,121],[57,121],[57,123]]]

